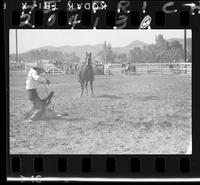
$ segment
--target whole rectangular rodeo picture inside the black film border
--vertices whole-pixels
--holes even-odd
[[[10,154],[192,154],[192,31],[9,30]]]

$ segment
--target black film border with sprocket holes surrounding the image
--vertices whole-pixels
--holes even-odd
[[[7,0],[8,1],[8,0]],[[12,5],[9,5],[4,10],[4,21],[5,21],[5,28],[4,28],[4,34],[5,34],[5,58],[6,61],[9,59],[8,55],[8,49],[9,49],[9,32],[8,30],[10,28],[18,28],[18,26],[12,26],[10,25],[10,13],[12,10],[15,10],[15,4],[19,4],[21,1],[16,1]],[[111,1],[106,1],[111,2]],[[112,1],[113,2],[113,1]],[[119,2],[119,1],[118,1]],[[118,3],[115,2],[116,4]],[[135,5],[137,7],[137,1],[134,1]],[[165,1],[166,2],[166,1]],[[188,2],[188,1],[182,1]],[[151,16],[155,16],[155,10],[158,9],[160,5],[163,5],[163,1],[147,1],[148,3],[148,11],[151,12]],[[156,3],[156,4],[155,4]],[[179,4],[180,2],[175,1],[175,3]],[[196,2],[197,3],[197,2]],[[115,6],[116,6],[115,4]],[[138,6],[139,3],[138,3]],[[116,11],[113,11],[112,6],[109,6],[111,10],[108,10],[110,14],[116,13]],[[141,6],[140,6],[141,8]],[[137,9],[137,8],[136,8]],[[116,10],[116,9],[115,9]],[[160,12],[158,10],[158,12]],[[180,11],[180,14],[187,14],[187,13],[181,13],[181,12],[187,12],[188,11]],[[102,13],[102,12],[101,12]],[[104,13],[102,13],[104,14]],[[109,13],[108,13],[109,14]],[[150,13],[149,13],[150,14]],[[162,13],[159,13],[162,14]],[[141,14],[140,14],[141,15]],[[152,17],[153,17],[152,16]],[[163,16],[163,14],[162,14]],[[106,17],[103,16],[103,20],[105,23]],[[154,18],[153,18],[154,19]],[[141,19],[140,19],[141,20]],[[189,15],[189,24],[187,26],[180,26],[177,24],[177,21],[180,21],[180,17],[176,14],[165,14],[165,24],[157,26],[156,21],[151,22],[151,28],[152,29],[191,29],[192,30],[192,58],[193,58],[193,67],[192,67],[192,155],[10,155],[9,154],[9,133],[6,133],[6,169],[7,169],[7,176],[9,177],[20,177],[22,176],[35,176],[38,177],[38,175],[41,175],[41,177],[48,177],[48,176],[54,176],[54,177],[120,177],[120,178],[196,178],[199,177],[199,171],[200,171],[200,147],[199,147],[199,133],[200,133],[200,126],[198,123],[200,122],[200,117],[198,114],[198,104],[199,101],[199,90],[198,90],[198,61],[200,59],[199,55],[199,48],[200,48],[200,15],[196,14],[195,16]],[[182,20],[183,21],[183,20]],[[99,21],[100,22],[100,21]],[[112,22],[112,21],[111,21]],[[159,22],[159,21],[158,21]],[[162,21],[161,21],[162,22]],[[184,21],[183,21],[184,22]],[[101,23],[101,22],[100,22]],[[100,24],[101,25],[101,24]],[[52,27],[45,27],[45,26],[38,26],[35,27],[39,29],[67,29],[66,27],[59,27],[58,25],[52,26]],[[24,28],[24,29],[30,29],[30,28]],[[32,29],[32,28],[31,28]],[[85,28],[85,26],[81,28],[76,29],[91,29],[91,27]],[[97,29],[112,29],[112,27],[103,25],[103,27],[97,28]],[[131,26],[130,22],[127,23],[127,27],[124,29],[137,29],[133,26]],[[6,68],[6,87],[5,89],[9,89],[9,69],[8,65],[5,63]],[[9,93],[6,92],[6,129],[9,130]],[[39,160],[39,162],[36,162],[36,168],[37,171],[34,171],[34,161]],[[41,158],[43,158],[43,170],[41,170]],[[57,172],[58,169],[58,159],[66,159],[67,161],[67,167],[66,171],[64,172]],[[86,158],[91,163],[91,169],[89,172],[82,171],[82,158]],[[20,159],[20,161],[18,160]],[[131,167],[131,160],[135,159],[135,163],[139,163],[139,167]],[[12,162],[15,160],[14,165],[17,167],[18,163],[20,162],[20,167],[16,169],[14,172],[12,170]],[[86,160],[86,161],[87,161]],[[108,161],[107,161],[108,160]],[[113,162],[113,160],[115,161]],[[162,162],[156,162],[157,160]],[[163,160],[165,165],[165,170],[163,171]],[[182,162],[181,162],[182,161]],[[189,162],[188,162],[189,161]],[[106,170],[106,162],[108,164],[108,171]],[[37,164],[38,163],[38,164]],[[161,166],[159,167],[159,163],[161,163]],[[187,163],[187,165],[184,165]],[[24,164],[28,164],[24,165]],[[51,164],[51,165],[49,165]],[[85,165],[87,166],[88,162],[85,162]],[[109,165],[110,164],[110,165]],[[133,163],[134,164],[134,163]],[[157,164],[157,165],[156,165]],[[137,165],[138,166],[138,165]],[[14,167],[14,168],[15,168]],[[156,171],[155,167],[159,169]],[[133,168],[133,169],[132,169]],[[113,170],[114,169],[114,170]],[[138,170],[139,169],[139,170]],[[181,170],[182,169],[182,170]],[[135,171],[134,171],[135,170]]]

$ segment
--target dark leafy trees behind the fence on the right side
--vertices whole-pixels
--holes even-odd
[[[113,52],[110,43],[103,44],[102,50],[98,53],[105,63],[170,63],[184,62],[183,45],[176,39],[167,41],[163,35],[155,38],[155,44],[143,48],[133,48],[126,53]],[[191,39],[187,39],[187,61],[191,62]]]

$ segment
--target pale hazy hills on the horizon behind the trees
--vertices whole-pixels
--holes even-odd
[[[179,41],[179,43],[183,46],[184,39],[172,38],[168,39],[168,42],[172,42],[174,40]],[[135,40],[129,43],[124,47],[112,47],[114,53],[120,54],[125,53],[128,54],[130,50],[134,48],[143,48],[144,46],[148,46],[148,44]],[[192,43],[191,38],[187,39],[187,50],[191,51]],[[68,57],[69,54],[74,54],[79,58],[85,57],[85,52],[92,52],[93,56],[97,55],[100,51],[103,50],[103,44],[97,45],[83,45],[83,46],[44,46],[38,49],[30,50],[25,53],[19,54],[19,59],[23,62],[34,62],[40,59],[51,60],[52,58],[59,57]],[[10,54],[10,60],[15,60],[15,54]]]

